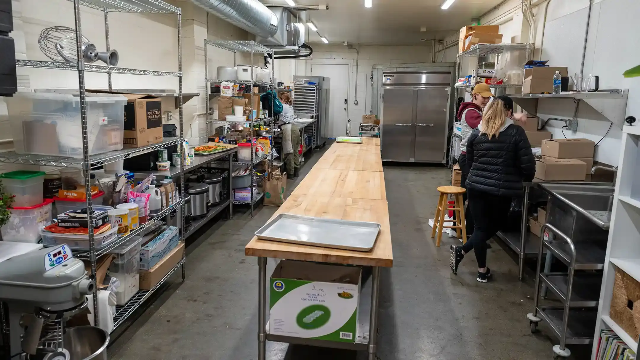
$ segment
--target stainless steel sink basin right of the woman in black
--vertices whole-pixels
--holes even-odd
[[[614,187],[601,184],[540,184],[547,194],[562,201],[604,230],[611,223]]]

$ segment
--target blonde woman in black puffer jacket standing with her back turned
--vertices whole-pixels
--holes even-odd
[[[468,206],[474,217],[474,233],[463,246],[451,246],[451,270],[471,249],[478,263],[477,281],[486,283],[491,270],[486,267],[486,242],[500,229],[506,219],[511,198],[522,196],[522,182],[536,174],[536,162],[531,144],[522,127],[509,118],[513,116],[513,100],[494,98],[484,109],[483,118],[467,141]]]

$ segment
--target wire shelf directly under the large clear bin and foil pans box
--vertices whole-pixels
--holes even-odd
[[[93,169],[117,160],[129,159],[130,157],[152,152],[161,148],[166,148],[167,146],[181,144],[183,141],[184,139],[182,139],[182,137],[164,137],[162,143],[148,145],[142,148],[124,148],[122,150],[115,150],[112,152],[91,155],[89,157],[89,162],[91,168]],[[0,162],[8,162],[10,164],[61,166],[72,168],[81,168],[83,165],[83,159],[76,159],[74,157],[20,154],[15,151],[0,152]]]

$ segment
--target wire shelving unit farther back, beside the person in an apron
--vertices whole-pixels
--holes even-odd
[[[209,62],[208,62],[208,57],[207,57],[207,45],[211,45],[213,47],[217,47],[219,49],[224,49],[227,51],[231,51],[234,52],[234,67],[237,65],[236,63],[236,56],[235,53],[236,52],[243,52],[243,53],[248,53],[251,54],[251,80],[221,80],[221,79],[209,79]],[[275,84],[273,84],[273,82],[264,82],[264,81],[257,81],[255,80],[255,77],[253,76],[253,64],[254,64],[254,54],[258,52],[258,53],[262,53],[264,56],[268,56],[268,54],[273,54],[273,50],[269,49],[268,47],[264,46],[264,45],[260,45],[257,42],[254,42],[252,40],[242,40],[242,41],[230,41],[230,40],[208,40],[205,39],[204,40],[204,61],[205,61],[205,72],[204,72],[204,81],[205,81],[205,114],[207,116],[207,125],[208,124],[213,124],[213,125],[229,125],[232,124],[233,122],[230,121],[224,121],[224,120],[220,120],[220,119],[209,119],[209,116],[211,116],[211,110],[209,109],[209,95],[212,93],[211,91],[211,84],[220,84],[221,82],[232,82],[234,84],[246,84],[250,86],[250,93],[251,93],[251,103],[250,106],[251,108],[255,108],[254,104],[253,104],[253,86],[254,85],[262,85],[262,86],[269,86],[269,90],[272,90],[273,88],[275,88]],[[273,80],[273,61],[271,64],[271,80]],[[260,119],[258,118],[260,116],[260,114],[257,114],[257,118],[251,118],[248,121],[246,121],[246,124],[248,124],[251,129],[252,129],[252,135],[255,132],[254,129],[254,125],[259,125],[262,123],[271,123],[271,127],[269,130],[269,134],[272,136],[271,137],[271,143],[273,144],[273,118],[264,118],[264,119]],[[269,159],[271,153],[267,153],[265,155],[262,155],[260,157],[256,157],[255,156],[255,147],[253,146],[253,142],[252,142],[252,146],[251,146],[251,161],[250,162],[237,162],[234,161],[233,164],[234,166],[238,166],[238,165],[245,165],[245,166],[253,166],[257,163],[259,163],[260,161],[264,160],[264,159]],[[269,161],[270,162],[270,161]],[[231,172],[233,172],[233,169],[230,169]],[[257,203],[257,201],[260,200],[260,198],[262,198],[262,196],[264,196],[264,192],[262,191],[254,191],[253,187],[257,187],[257,184],[255,182],[255,178],[253,178],[252,180],[252,186],[251,186],[251,199],[250,201],[238,201],[238,200],[233,200],[234,199],[234,195],[232,194],[233,190],[230,189],[231,192],[231,198],[232,198],[232,203],[236,204],[236,205],[250,205],[251,207],[251,216],[253,217],[253,205],[255,205],[255,203]]]

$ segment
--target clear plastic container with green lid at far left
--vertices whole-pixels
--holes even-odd
[[[13,207],[33,207],[42,203],[44,176],[44,171],[18,170],[0,174],[0,180],[14,196]]]

